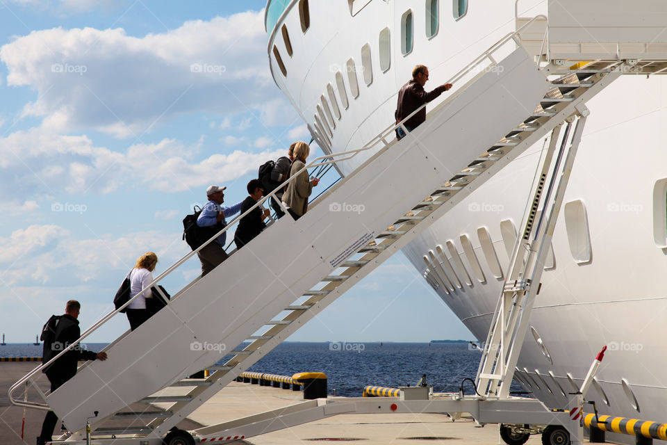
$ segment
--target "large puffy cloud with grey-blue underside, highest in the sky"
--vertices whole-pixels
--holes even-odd
[[[270,78],[263,12],[190,21],[142,38],[123,29],[33,31],[1,47],[0,59],[8,85],[39,93],[24,115],[58,132],[140,136],[177,115],[247,109],[267,125],[297,118]]]

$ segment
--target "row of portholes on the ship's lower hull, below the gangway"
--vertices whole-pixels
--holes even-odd
[[[586,215],[584,202],[582,202],[582,200],[575,200],[566,203],[563,215],[565,217],[570,253],[573,256],[573,259],[577,264],[589,263],[592,255],[591,234],[588,229],[588,216]],[[538,224],[540,221],[541,211],[537,211],[535,223]],[[500,222],[500,234],[502,236],[504,248],[507,252],[507,257],[511,258],[517,237],[516,227],[512,223],[512,220],[507,219]],[[500,260],[493,247],[491,234],[489,234],[488,229],[486,229],[486,227],[479,227],[477,229],[477,238],[479,240],[479,245],[481,246],[481,252],[484,255],[484,259],[486,259],[486,264],[489,270],[491,270],[491,275],[497,280],[502,280],[502,266],[500,265]],[[463,234],[459,236],[459,241],[461,243],[461,248],[463,248],[463,254],[466,256],[468,264],[470,265],[470,270],[472,270],[472,275],[474,275],[480,283],[486,283],[486,275],[479,264],[479,259],[477,259],[477,254],[475,254],[475,249],[472,247],[470,238],[467,234]],[[445,245],[447,246],[447,252],[449,252],[450,257],[447,257],[447,255],[444,254],[443,246],[441,245],[436,246],[435,252],[434,250],[430,250],[428,254],[423,257],[425,264],[427,265],[427,270],[430,271],[430,273],[427,274],[429,275],[427,282],[429,282],[434,289],[437,289],[438,287],[442,288],[447,294],[454,292],[455,287],[463,289],[463,285],[461,284],[462,280],[459,277],[463,277],[463,282],[466,282],[468,286],[472,287],[472,280],[470,280],[471,274],[468,273],[468,269],[463,264],[463,261],[461,261],[459,250],[456,249],[452,241],[447,241]],[[450,259],[456,267],[452,266]],[[544,269],[552,270],[554,268],[556,268],[556,256],[552,244],[547,252]]]

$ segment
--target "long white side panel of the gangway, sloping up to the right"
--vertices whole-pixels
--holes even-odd
[[[501,66],[438,107],[402,143],[336,184],[304,217],[281,218],[238,250],[118,341],[106,362],[81,369],[49,396],[53,410],[70,429],[80,430],[92,412],[104,419],[214,364],[222,348],[229,352],[247,339],[331,273],[347,248],[385,229],[522,122],[550,88],[523,49]],[[363,211],[334,205],[343,202]],[[192,350],[193,341],[220,346]]]

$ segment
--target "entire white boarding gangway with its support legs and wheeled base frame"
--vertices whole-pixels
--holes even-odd
[[[640,0],[640,3],[642,1],[654,3],[654,0]],[[571,0],[550,1],[550,8],[552,3],[556,5],[554,8],[563,3],[579,4]],[[614,3],[625,19],[632,20],[633,11],[642,9],[636,5],[625,6],[620,0],[610,3]],[[563,17],[560,17],[561,25],[566,20]],[[634,19],[637,27],[643,26],[643,17]],[[556,140],[564,122],[568,124],[568,131],[563,136],[559,153],[563,154],[562,150],[569,147],[572,154],[564,163],[561,163],[561,154],[555,156],[554,161],[561,170],[553,170],[550,175],[568,174],[588,115],[584,104],[621,74],[655,73],[667,67],[661,62],[667,60],[667,54],[646,52],[646,45],[622,46],[623,42],[635,42],[632,27],[615,35],[616,44],[600,45],[602,49],[598,48],[593,58],[591,54],[579,51],[583,45],[561,44],[559,47],[557,34],[552,33],[551,24],[548,24],[539,52],[534,54],[535,51],[527,49],[529,45],[522,46],[522,33],[533,35],[526,31],[540,24],[547,24],[545,16],[526,20],[520,29],[509,33],[464,67],[450,79],[456,92],[435,106],[428,113],[427,121],[402,140],[395,139],[397,126],[392,124],[359,149],[321,156],[312,161],[306,168],[360,155],[368,158],[312,202],[302,218],[295,221],[285,216],[277,220],[211,273],[186,285],[164,309],[137,330],[125,332],[110,343],[104,349],[108,353],[105,362],[83,364],[65,385],[51,394],[40,393],[42,402],[17,400],[14,397],[17,389],[41,374],[43,366],[38,366],[13,385],[9,391],[10,401],[14,405],[56,412],[72,431],[58,441],[65,443],[85,443],[87,422],[90,422],[96,444],[157,445],[164,441],[167,445],[187,445],[219,437],[217,432],[225,428],[229,430],[229,425],[194,432],[174,430],[174,427],[438,218],[445,216],[504,165],[552,131],[550,152],[557,152]],[[586,38],[584,34],[582,38]],[[618,40],[619,35],[621,40]],[[560,56],[559,48],[569,52]],[[575,121],[575,131],[570,134],[570,126]],[[562,196],[566,183],[554,188],[551,200]],[[271,199],[272,195],[265,200]],[[559,203],[554,204],[557,213],[556,204]],[[235,218],[224,231],[238,223],[242,216],[245,214]],[[543,241],[545,234],[550,235],[548,231],[553,229],[555,220],[554,216],[544,224],[533,226],[534,222],[528,218],[525,227],[530,236],[539,232]],[[533,236],[532,239],[537,238]],[[514,264],[525,264],[525,259],[518,254],[521,239],[517,243]],[[195,253],[176,261],[158,275],[151,286],[181,270]],[[528,257],[533,270],[538,269],[534,266],[543,261],[543,256],[542,250],[538,249]],[[508,280],[517,274],[508,274]],[[538,283],[539,276],[533,277]],[[537,286],[531,289],[527,286],[516,289],[516,283],[514,288],[511,286],[511,282],[507,282],[504,289],[510,295],[523,292],[522,302],[525,314],[528,314],[532,305],[530,299],[534,298]],[[507,295],[502,298],[507,299]],[[503,310],[507,308],[499,304],[497,316],[500,318],[507,316]],[[82,334],[80,341],[117,314],[118,310],[101,318]],[[510,314],[509,320],[512,332],[502,332],[498,337],[503,339],[509,335],[509,339],[516,340],[525,323],[516,314]],[[509,328],[504,322],[499,325]],[[215,365],[221,358],[221,348],[195,347],[204,344],[224,346],[225,354],[231,358],[222,365]],[[76,343],[68,349],[74,346]],[[509,346],[503,345],[509,351],[507,357],[497,359],[502,360],[502,369],[486,370],[488,372],[481,375],[483,383],[490,388],[481,396],[440,403],[374,401],[375,408],[366,406],[368,401],[318,402],[316,409],[321,407],[320,414],[327,416],[365,410],[464,411],[473,413],[482,423],[554,423],[567,428],[573,443],[578,442],[579,423],[570,419],[567,413],[553,413],[539,401],[513,400],[505,394],[503,382],[511,381],[513,373],[513,367],[507,365],[516,362],[518,355],[518,350]],[[208,378],[187,378],[201,369],[215,371]],[[183,387],[186,391],[179,396],[159,394],[168,387]],[[172,405],[163,412],[128,411],[129,405],[140,401]],[[303,423],[312,417],[299,414],[298,410],[293,414],[290,422],[284,421],[283,416],[281,428],[295,424],[295,421]],[[143,420],[143,424],[108,426],[110,421],[122,419]],[[267,431],[252,428],[251,424],[252,421],[242,425],[237,423],[234,428],[251,428],[254,434]]]

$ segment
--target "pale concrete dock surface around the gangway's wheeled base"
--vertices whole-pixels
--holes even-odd
[[[39,435],[44,412],[27,410],[25,440],[22,440],[21,424],[23,409],[10,406],[7,390],[14,382],[28,373],[35,363],[0,362],[0,444],[35,444]],[[42,389],[48,388],[48,381],[42,378]],[[165,389],[165,393],[179,394],[183,388]],[[361,395],[361,394],[360,394]],[[28,400],[36,400],[28,398]],[[205,405],[189,416],[189,420],[179,424],[179,428],[195,429],[199,426],[214,425],[242,416],[274,410],[303,401],[302,391],[291,391],[274,387],[260,387],[249,383],[232,382],[211,398]],[[166,404],[157,404],[166,407]],[[133,410],[140,410],[138,404]],[[154,407],[151,408],[154,410]],[[306,423],[285,430],[251,437],[234,444],[248,445],[293,445],[300,442],[363,442],[367,445],[408,445],[427,440],[431,444],[447,445],[495,445],[502,443],[497,426],[478,428],[471,419],[452,422],[440,414],[342,414],[322,421]],[[541,444],[539,435],[532,436],[527,444]]]

